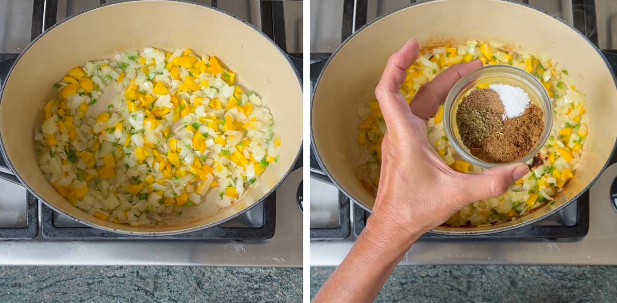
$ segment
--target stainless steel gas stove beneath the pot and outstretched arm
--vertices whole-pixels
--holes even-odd
[[[311,6],[311,81],[326,60],[354,31],[379,15],[415,1],[346,0]],[[610,0],[524,0],[573,25],[605,51],[617,67]],[[617,29],[617,28],[616,28]],[[457,237],[426,234],[400,264],[617,264],[617,208],[611,185],[617,158],[577,201],[544,220],[494,235]],[[311,154],[311,265],[338,265],[365,227],[370,213],[328,179]],[[617,191],[617,183],[614,186]],[[615,193],[617,197],[617,192]]]

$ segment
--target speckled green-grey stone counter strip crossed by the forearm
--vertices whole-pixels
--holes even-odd
[[[311,268],[311,297],[334,271]],[[617,267],[397,267],[376,302],[615,302]]]

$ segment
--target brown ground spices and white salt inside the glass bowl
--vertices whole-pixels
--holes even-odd
[[[491,163],[523,159],[544,130],[544,112],[516,86],[473,89],[456,111],[458,133],[474,157]]]

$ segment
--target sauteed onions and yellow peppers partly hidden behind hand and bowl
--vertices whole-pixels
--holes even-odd
[[[517,51],[503,43],[466,41],[445,47],[426,48],[417,62],[407,70],[401,93],[407,102],[421,85],[433,80],[450,65],[480,59],[484,65],[504,64],[526,70],[547,88],[553,102],[553,129],[547,143],[534,159],[531,171],[516,181],[507,193],[499,197],[473,202],[447,221],[452,226],[481,226],[501,223],[528,214],[561,191],[574,178],[581,165],[587,137],[586,98],[568,77],[568,70],[545,54]],[[428,138],[436,152],[453,169],[464,173],[478,173],[482,168],[465,162],[457,155],[445,137],[443,106],[428,122]],[[362,123],[358,126],[358,143],[362,149],[363,165],[358,178],[376,192],[379,185],[381,141],[386,132],[379,103],[368,102],[358,109]]]

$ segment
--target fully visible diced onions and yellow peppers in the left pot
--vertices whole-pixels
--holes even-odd
[[[41,104],[38,160],[68,201],[101,220],[161,222],[233,204],[278,161],[267,99],[191,49],[144,48],[72,68]]]

